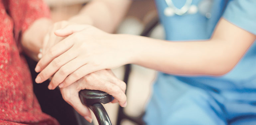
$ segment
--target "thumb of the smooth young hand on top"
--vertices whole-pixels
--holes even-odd
[[[68,25],[64,27],[63,29],[56,30],[54,34],[59,37],[66,37],[69,36],[75,32],[82,31],[86,28],[86,25]]]

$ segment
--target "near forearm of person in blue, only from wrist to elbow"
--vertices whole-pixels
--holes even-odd
[[[124,38],[124,37],[122,37]],[[136,40],[132,40],[136,39]],[[233,53],[222,41],[167,42],[145,37],[128,37],[132,62],[171,74],[222,75],[233,68],[246,50]]]

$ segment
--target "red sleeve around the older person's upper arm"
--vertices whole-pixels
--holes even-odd
[[[14,37],[18,40],[19,33],[39,18],[49,18],[50,10],[43,0],[7,0],[7,10],[14,22]]]

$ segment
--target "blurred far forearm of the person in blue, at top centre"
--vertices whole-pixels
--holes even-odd
[[[130,0],[93,0],[69,21],[90,24],[112,33],[125,16],[130,3]]]

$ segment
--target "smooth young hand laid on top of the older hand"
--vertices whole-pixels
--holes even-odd
[[[54,75],[49,89],[55,89],[59,84],[59,87],[66,87],[88,73],[127,63],[124,53],[130,51],[121,48],[126,45],[95,27],[69,25],[55,34],[69,36],[53,46],[35,68],[37,72],[41,71],[37,83]]]

